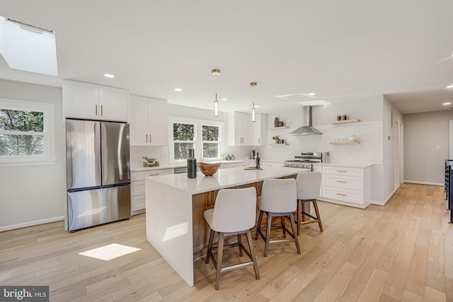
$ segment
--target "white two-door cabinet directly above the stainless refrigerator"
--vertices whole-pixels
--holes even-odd
[[[127,122],[129,92],[77,81],[63,81],[64,117]]]

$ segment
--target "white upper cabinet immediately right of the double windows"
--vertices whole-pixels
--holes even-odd
[[[229,112],[228,114],[228,145],[229,146],[251,146],[251,118],[247,113]]]

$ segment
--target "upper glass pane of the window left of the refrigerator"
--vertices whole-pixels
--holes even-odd
[[[0,109],[0,130],[43,132],[44,113],[25,110]]]

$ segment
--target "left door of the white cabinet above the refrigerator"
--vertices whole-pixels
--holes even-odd
[[[99,86],[76,81],[63,81],[63,106],[65,117],[98,119]]]

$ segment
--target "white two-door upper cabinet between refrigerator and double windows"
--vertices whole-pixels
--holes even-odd
[[[167,101],[130,95],[129,124],[131,146],[166,146]]]

